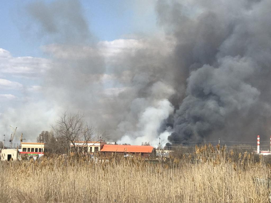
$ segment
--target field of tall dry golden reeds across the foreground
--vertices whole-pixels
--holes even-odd
[[[202,146],[157,163],[75,155],[2,161],[0,202],[267,202],[269,189],[253,177],[269,177],[269,165],[251,153],[233,156]]]

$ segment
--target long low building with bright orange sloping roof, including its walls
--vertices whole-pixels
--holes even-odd
[[[156,149],[153,146],[137,146],[137,145],[103,145],[101,155],[111,156],[113,154],[122,156],[156,156]]]

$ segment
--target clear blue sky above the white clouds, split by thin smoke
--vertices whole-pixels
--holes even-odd
[[[28,32],[24,31],[28,23],[36,26],[25,12],[25,7],[30,2],[33,1],[15,0],[0,3],[0,48],[8,50],[14,57],[46,57],[40,49],[45,42],[29,36]],[[129,38],[134,33],[155,32],[155,7],[151,1],[142,2],[135,4],[134,1],[80,1],[90,31],[99,41]]]

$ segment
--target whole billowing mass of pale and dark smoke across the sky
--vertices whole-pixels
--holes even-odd
[[[42,90],[54,114],[80,110],[120,143],[270,134],[271,2],[153,6],[157,34],[114,41],[93,36],[78,1],[28,6],[47,42]]]

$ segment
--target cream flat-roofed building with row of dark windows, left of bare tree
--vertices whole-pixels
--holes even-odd
[[[37,143],[37,142],[22,142],[21,154],[27,155],[43,155],[46,152],[50,152],[51,147],[49,143]]]

